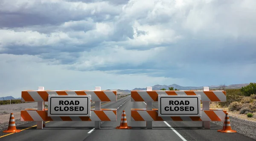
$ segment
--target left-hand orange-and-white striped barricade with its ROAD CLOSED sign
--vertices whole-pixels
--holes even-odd
[[[100,129],[101,121],[116,121],[117,109],[102,109],[101,102],[116,102],[116,90],[26,90],[21,92],[22,102],[38,102],[38,109],[25,109],[20,113],[21,121],[37,121],[42,129],[45,121],[95,121]],[[84,99],[83,99],[84,98]],[[48,102],[48,108],[44,107]],[[91,109],[95,102],[95,109]],[[87,108],[84,108],[87,107]]]

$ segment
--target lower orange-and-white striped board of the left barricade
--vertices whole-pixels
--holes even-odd
[[[116,110],[91,110],[91,116],[51,116],[48,110],[23,110],[20,121],[116,121]]]

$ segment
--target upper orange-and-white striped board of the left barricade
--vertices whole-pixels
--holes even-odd
[[[116,90],[26,90],[21,92],[22,102],[48,102],[49,95],[55,96],[76,96],[90,95],[91,102],[116,102]]]

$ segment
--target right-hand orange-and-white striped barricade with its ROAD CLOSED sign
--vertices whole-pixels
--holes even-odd
[[[205,129],[210,121],[224,121],[227,111],[209,109],[209,102],[225,102],[226,91],[211,90],[132,90],[131,102],[146,102],[146,109],[131,109],[131,121],[147,121],[152,129],[152,121],[203,121]],[[158,109],[152,109],[152,102],[158,102]],[[162,103],[161,103],[162,102]],[[201,102],[203,108],[201,109]]]

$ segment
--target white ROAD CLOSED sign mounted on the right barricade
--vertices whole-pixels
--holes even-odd
[[[158,116],[201,116],[200,95],[158,96]]]

